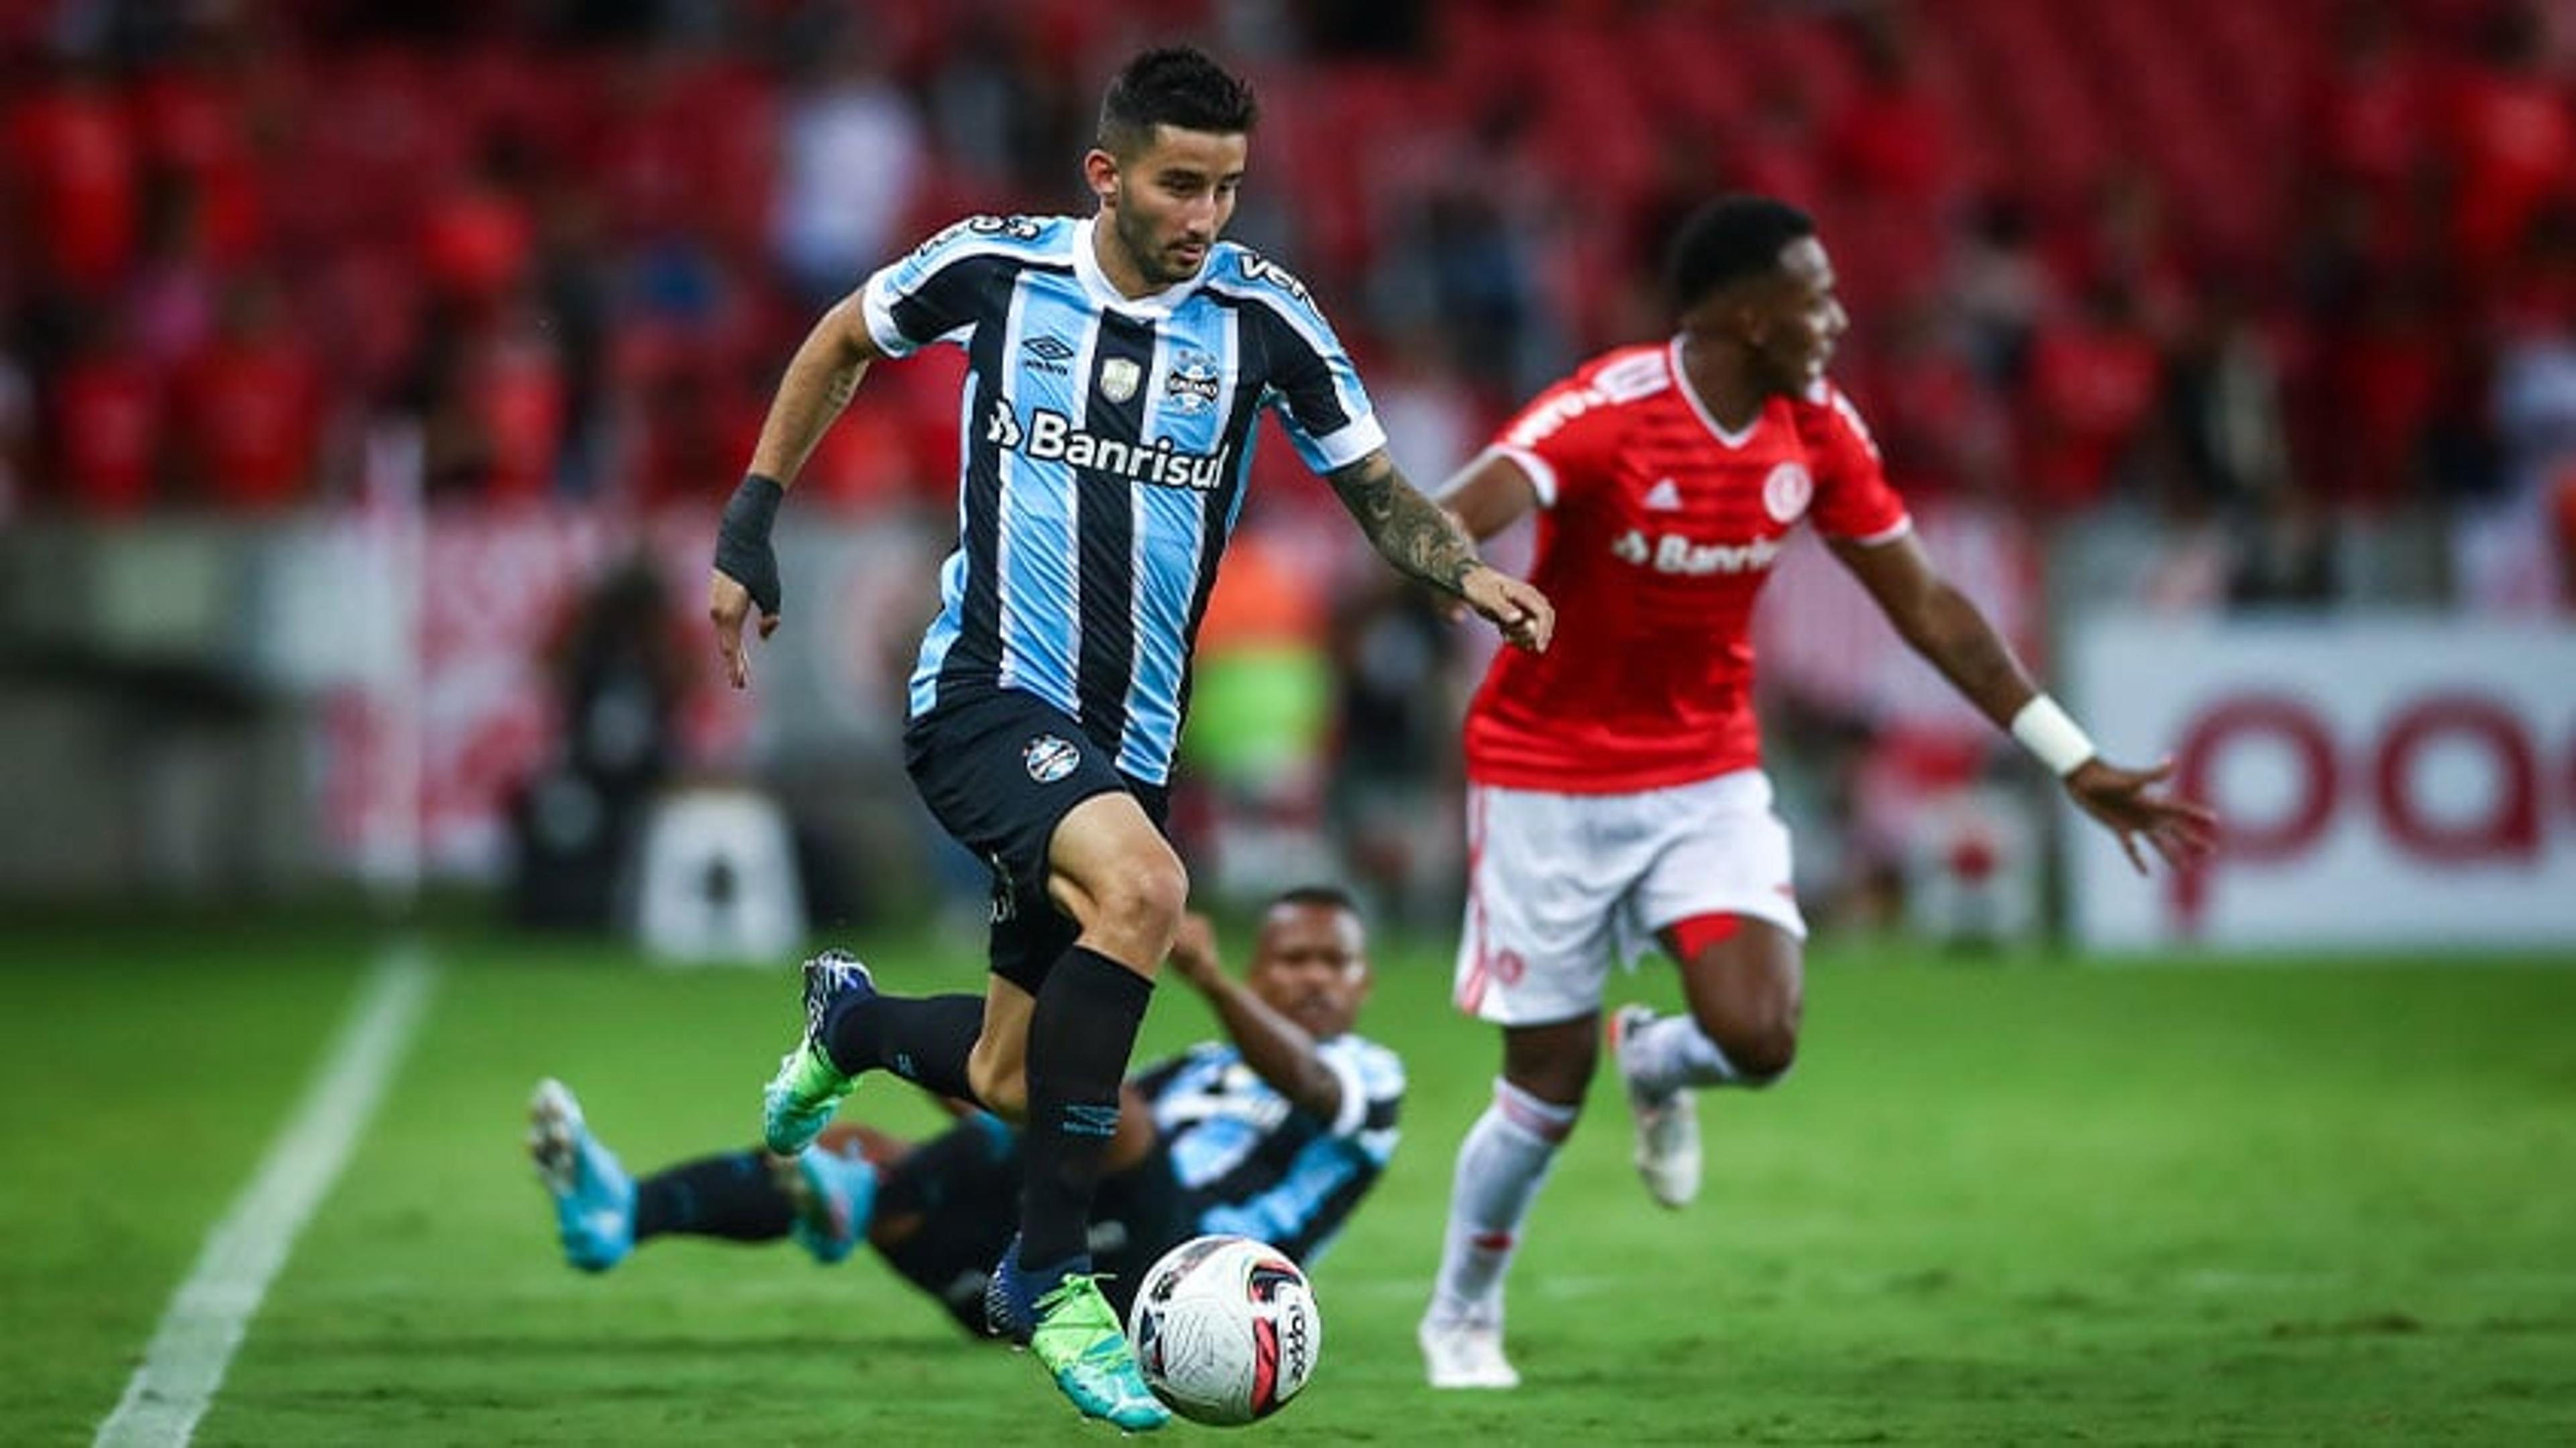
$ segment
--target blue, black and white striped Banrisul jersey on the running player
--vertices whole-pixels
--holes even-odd
[[[966,348],[958,549],[912,670],[912,714],[1020,688],[1118,768],[1167,783],[1190,642],[1278,407],[1314,472],[1386,435],[1306,286],[1234,242],[1126,299],[1092,222],[971,216],[863,289],[886,356]]]

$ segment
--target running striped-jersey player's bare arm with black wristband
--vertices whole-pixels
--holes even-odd
[[[716,624],[716,654],[734,688],[752,683],[742,652],[742,624],[755,603],[760,605],[760,636],[768,639],[778,631],[778,549],[770,546],[778,502],[786,500],[788,484],[814,456],[824,428],[850,405],[868,363],[881,356],[876,338],[868,335],[860,296],[853,291],[814,322],[778,381],[778,397],[770,399],[770,415],[760,423],[760,443],[752,448],[752,469],[724,505],[724,520],[716,526],[716,569],[706,590],[706,616]]]

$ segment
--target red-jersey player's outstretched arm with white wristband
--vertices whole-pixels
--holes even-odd
[[[2084,729],[2030,680],[1986,613],[1932,567],[1914,533],[1883,544],[1834,541],[1834,557],[1870,590],[1914,652],[2056,770],[2076,806],[2120,840],[2130,866],[2146,871],[2141,840],[2169,866],[2210,853],[2218,814],[2164,788],[2174,763],[2133,770],[2094,752]]]

